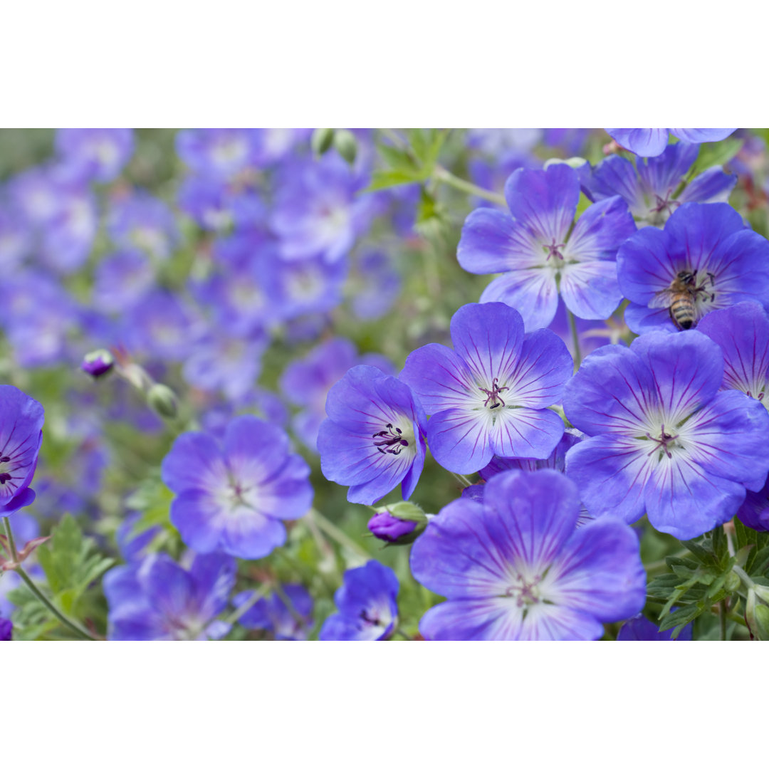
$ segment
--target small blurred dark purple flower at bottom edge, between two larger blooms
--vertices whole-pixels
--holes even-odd
[[[238,608],[253,594],[252,590],[238,593],[232,603]],[[238,622],[248,630],[269,631],[275,641],[306,641],[312,629],[312,596],[301,584],[283,585],[283,596],[275,592],[269,598],[261,598]]]

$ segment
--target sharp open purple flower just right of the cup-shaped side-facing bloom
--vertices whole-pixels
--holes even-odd
[[[521,315],[492,302],[459,308],[451,341],[454,350],[415,350],[401,372],[431,414],[427,437],[436,460],[472,473],[494,454],[548,457],[564,433],[548,406],[561,400],[573,371],[561,339],[546,328],[524,338]]]

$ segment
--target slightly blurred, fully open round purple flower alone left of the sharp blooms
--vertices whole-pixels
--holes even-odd
[[[181,434],[161,465],[177,494],[171,523],[190,548],[264,558],[285,542],[281,521],[310,508],[310,468],[291,454],[281,428],[251,415],[233,419],[225,438]]]

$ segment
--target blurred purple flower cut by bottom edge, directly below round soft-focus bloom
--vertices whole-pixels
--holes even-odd
[[[109,641],[208,641],[230,626],[227,608],[237,566],[227,555],[198,555],[189,569],[165,553],[118,566],[104,578]]]

